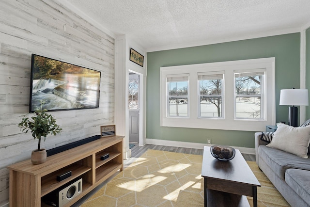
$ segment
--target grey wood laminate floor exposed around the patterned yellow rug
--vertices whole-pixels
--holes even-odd
[[[173,146],[162,146],[162,145],[155,145],[155,144],[145,144],[144,146],[139,146],[138,143],[130,143],[135,144],[131,148],[131,157],[129,159],[124,160],[124,168],[128,167],[132,162],[138,159],[144,152],[148,149],[155,149],[155,150],[163,150],[168,152],[179,152],[185,154],[193,154],[193,155],[202,155],[203,149],[192,149],[192,148],[185,148],[185,147],[173,147]],[[242,154],[245,160],[247,161],[255,161],[255,155],[250,154]],[[117,175],[117,174],[115,174]],[[114,175],[114,176],[115,176]],[[90,198],[96,191],[102,188],[102,186],[106,185],[114,176],[111,176],[105,182],[97,186],[93,191],[85,195],[81,198],[77,203],[75,203],[72,207],[79,207],[82,205],[88,198]]]

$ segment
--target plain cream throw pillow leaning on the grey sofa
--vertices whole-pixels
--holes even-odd
[[[279,124],[271,143],[267,146],[292,153],[302,158],[308,158],[310,143],[309,127],[292,127]]]

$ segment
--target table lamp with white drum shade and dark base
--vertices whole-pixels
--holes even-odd
[[[289,125],[298,126],[298,108],[296,106],[308,106],[308,89],[281,89],[279,105],[291,105],[289,107]]]

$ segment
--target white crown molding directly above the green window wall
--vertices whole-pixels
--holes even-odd
[[[282,35],[282,34],[290,34],[290,33],[295,33],[295,32],[300,32],[300,31],[301,31],[301,28],[298,27],[298,28],[291,28],[288,30],[261,32],[261,33],[256,33],[254,35],[234,36],[234,37],[225,38],[225,39],[210,39],[210,40],[201,41],[201,42],[192,42],[192,43],[185,43],[185,44],[166,45],[166,46],[159,46],[159,47],[154,47],[154,48],[147,48],[146,52],[155,52],[155,51],[179,49],[179,48],[190,48],[190,47],[212,45],[212,44],[224,43],[224,42],[233,42],[233,41],[239,41],[239,40],[247,40],[247,39],[276,36],[276,35]]]

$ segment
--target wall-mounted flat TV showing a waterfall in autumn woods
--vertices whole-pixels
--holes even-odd
[[[30,112],[99,108],[99,94],[99,71],[32,54]]]

